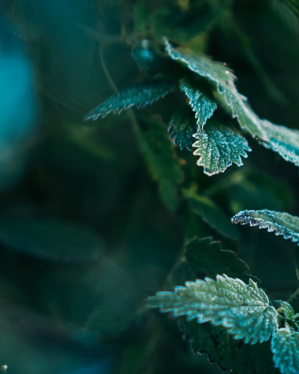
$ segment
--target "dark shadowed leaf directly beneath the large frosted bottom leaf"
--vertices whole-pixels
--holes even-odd
[[[235,340],[222,326],[209,323],[198,324],[180,318],[180,328],[185,331],[194,353],[206,353],[211,363],[216,362],[222,371],[240,374],[272,374],[276,372],[272,364],[269,341],[262,344],[244,344]]]

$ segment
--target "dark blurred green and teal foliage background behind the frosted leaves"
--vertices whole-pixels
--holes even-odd
[[[118,89],[180,78],[161,52],[167,36],[227,62],[260,117],[299,129],[297,13],[281,0],[1,1],[0,372],[219,373],[143,303],[173,286],[173,274],[180,284],[190,272],[212,276],[212,259],[217,273],[228,271],[231,252],[218,244],[202,249],[200,266],[181,264],[194,236],[237,253],[271,301],[295,291],[296,244],[230,217],[299,215],[296,166],[249,139],[244,166],[203,174],[169,140],[171,116],[188,102],[179,91],[140,111],[83,117]],[[299,299],[292,306],[297,313]],[[192,349],[207,352],[205,344]],[[259,360],[256,347],[248,349]]]

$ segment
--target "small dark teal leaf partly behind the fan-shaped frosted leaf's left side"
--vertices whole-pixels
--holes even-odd
[[[193,150],[193,134],[196,132],[196,126],[192,120],[194,121],[189,112],[181,109],[172,116],[168,127],[169,137],[173,139],[173,144],[179,145],[181,149],[186,147],[188,151]]]

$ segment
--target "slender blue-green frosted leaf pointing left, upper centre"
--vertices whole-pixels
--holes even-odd
[[[120,114],[123,110],[136,106],[138,109],[162,99],[174,90],[173,83],[167,80],[152,80],[139,83],[136,86],[126,88],[123,91],[110,96],[102,104],[86,114],[84,120],[95,121],[98,117],[106,117],[107,114]]]

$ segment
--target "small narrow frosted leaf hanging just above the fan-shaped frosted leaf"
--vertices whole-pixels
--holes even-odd
[[[187,79],[181,80],[180,88],[189,99],[189,105],[195,112],[195,118],[197,119],[197,131],[200,131],[203,129],[207,119],[213,115],[217,108],[216,102],[210,100],[202,92],[192,87]]]

